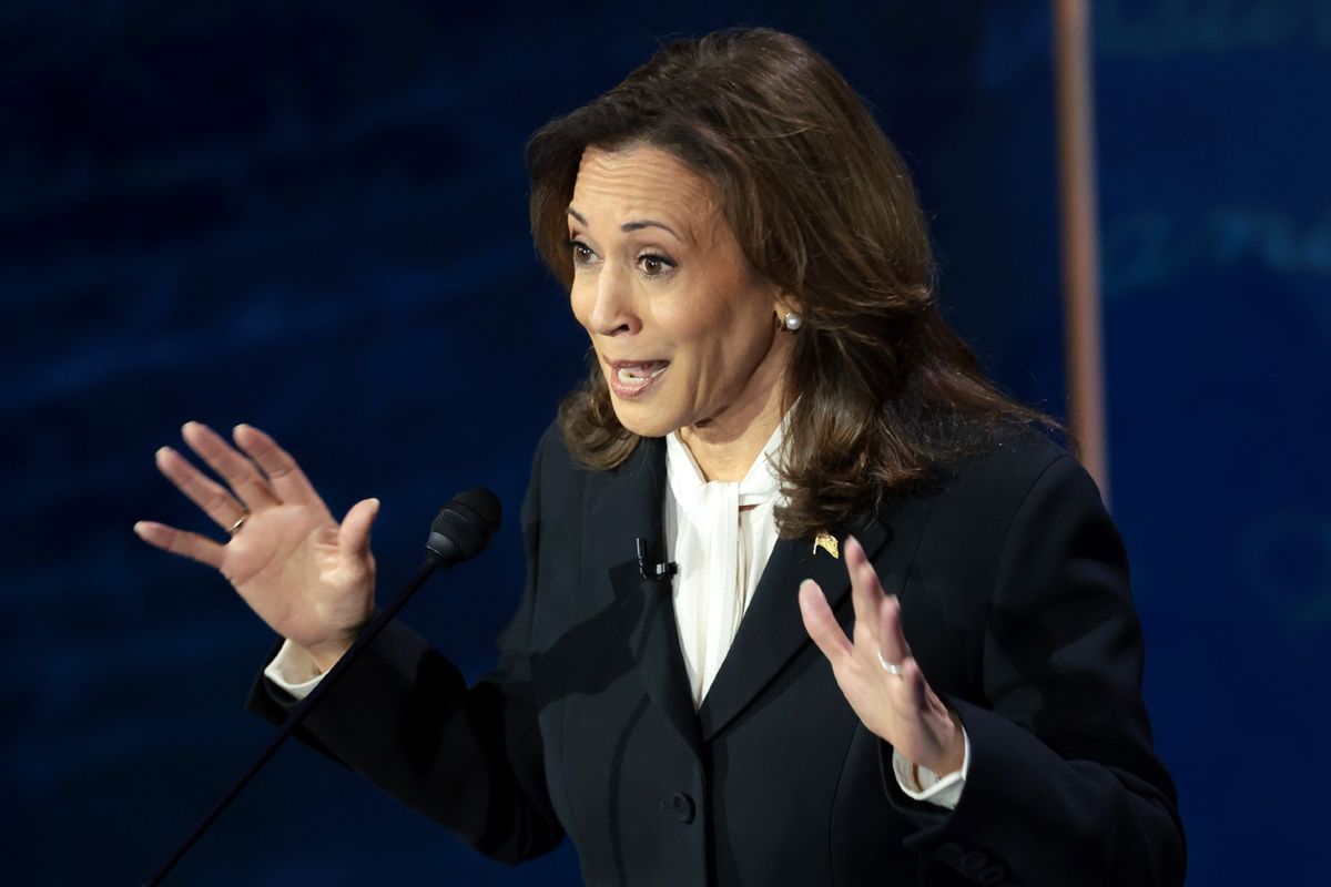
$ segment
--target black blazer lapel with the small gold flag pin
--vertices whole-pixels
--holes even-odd
[[[858,539],[873,560],[892,531],[876,517],[852,520],[836,532],[839,548],[845,547],[847,535]],[[808,539],[783,539],[776,544],[735,642],[697,711],[704,742],[724,729],[805,644],[812,644],[797,597],[805,578],[819,584],[832,609],[851,592],[841,557],[815,548]]]

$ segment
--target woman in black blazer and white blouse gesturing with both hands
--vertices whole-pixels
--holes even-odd
[[[1177,884],[1182,831],[1094,485],[942,323],[904,165],[787,35],[671,44],[538,132],[592,344],[536,452],[528,581],[473,688],[393,626],[306,739],[499,859],[591,884]],[[286,640],[281,717],[370,613],[378,503],[202,426],[158,464]],[[644,569],[638,540],[677,567]]]

